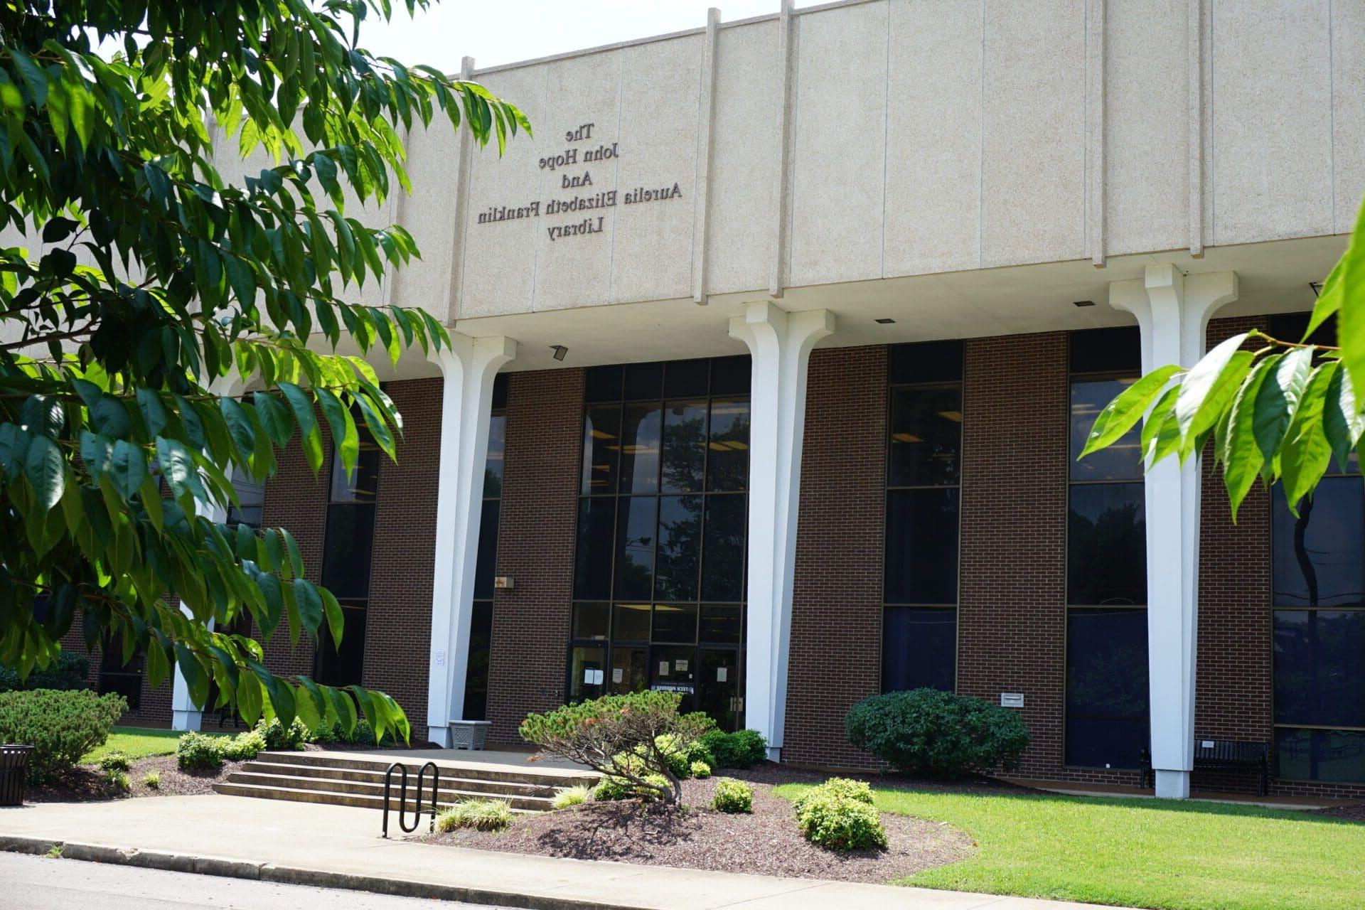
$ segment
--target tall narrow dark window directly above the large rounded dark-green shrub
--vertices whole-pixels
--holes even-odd
[[[887,352],[882,690],[957,685],[962,342]]]

